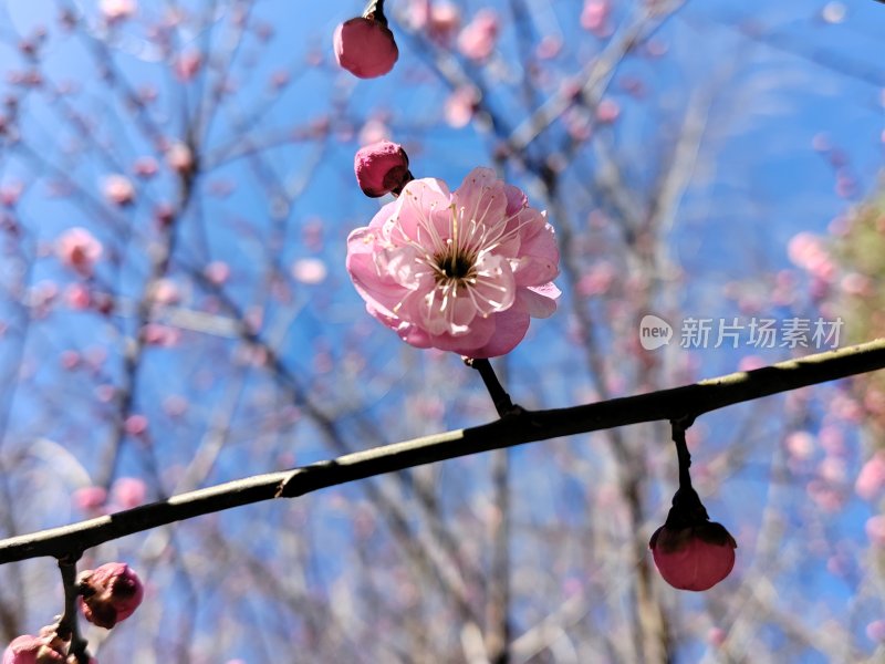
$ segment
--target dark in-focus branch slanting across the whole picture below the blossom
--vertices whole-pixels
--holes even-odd
[[[671,390],[569,408],[517,411],[490,424],[257,475],[71,526],[9,538],[0,541],[0,564],[41,556],[77,554],[175,521],[260,500],[294,498],[423,464],[628,424],[694,418],[732,404],[878,369],[885,369],[885,339]],[[662,444],[669,445],[669,440]]]

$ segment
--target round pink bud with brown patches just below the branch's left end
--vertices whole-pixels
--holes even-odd
[[[92,624],[110,630],[126,620],[142,603],[144,587],[122,562],[108,562],[80,577],[80,608]]]

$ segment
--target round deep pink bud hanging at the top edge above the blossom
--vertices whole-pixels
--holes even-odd
[[[335,60],[360,79],[375,79],[389,72],[399,50],[394,33],[374,18],[356,17],[335,29]]]

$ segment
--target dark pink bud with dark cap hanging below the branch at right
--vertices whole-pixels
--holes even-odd
[[[709,590],[735,567],[738,543],[721,523],[709,520],[694,489],[680,488],[667,521],[648,547],[664,580],[679,590]]]

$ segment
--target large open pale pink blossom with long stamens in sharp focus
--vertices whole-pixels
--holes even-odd
[[[560,294],[553,228],[489,168],[454,193],[410,181],[347,238],[347,271],[368,312],[404,341],[475,359],[510,352]]]

